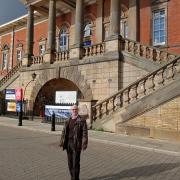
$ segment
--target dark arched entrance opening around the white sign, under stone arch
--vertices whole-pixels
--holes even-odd
[[[56,91],[77,91],[77,98],[84,99],[80,89],[70,80],[52,79],[39,90],[34,103],[34,115],[44,116],[45,105],[55,105]]]

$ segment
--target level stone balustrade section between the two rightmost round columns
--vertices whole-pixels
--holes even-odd
[[[105,44],[94,44],[83,47],[83,57],[102,55],[105,52]]]

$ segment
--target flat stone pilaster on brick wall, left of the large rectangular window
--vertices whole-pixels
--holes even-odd
[[[128,38],[137,41],[138,33],[138,3],[137,0],[129,0],[128,12]]]

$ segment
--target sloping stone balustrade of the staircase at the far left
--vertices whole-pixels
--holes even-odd
[[[3,86],[17,71],[19,71],[22,66],[22,61],[20,61],[16,66],[14,66],[1,80],[0,87]]]

